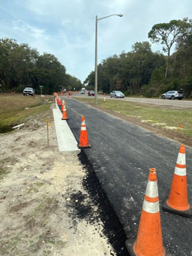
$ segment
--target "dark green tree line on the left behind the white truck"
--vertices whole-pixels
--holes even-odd
[[[81,88],[81,81],[66,73],[64,65],[51,54],[40,55],[27,44],[18,45],[15,39],[0,39],[0,92],[22,92],[25,87],[51,94],[62,89]]]

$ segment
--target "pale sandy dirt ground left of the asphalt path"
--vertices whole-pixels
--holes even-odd
[[[58,151],[51,109],[0,141],[0,255],[116,255],[82,185],[86,169]]]

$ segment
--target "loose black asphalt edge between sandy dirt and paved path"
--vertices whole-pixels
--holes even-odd
[[[97,176],[94,173],[94,169],[91,165],[91,162],[88,160],[87,155],[84,153],[84,150],[81,150],[81,153],[78,155],[81,164],[84,165],[86,170],[86,176],[83,180],[83,186],[88,194],[91,197],[93,204],[97,205],[98,208],[98,217],[103,222],[103,233],[108,238],[109,243],[114,248],[114,251],[117,255],[129,256],[125,248],[126,235],[124,229],[118,220],[117,215],[114,212],[114,209],[110,202],[108,201],[107,195],[104,190],[101,188],[100,181],[98,181]],[[89,210],[89,211],[87,211]],[[86,218],[87,214],[90,214],[90,209],[79,208],[78,214],[81,218]],[[91,216],[91,214],[90,214]],[[91,218],[92,221],[97,221]],[[111,253],[111,255],[114,255]]]

